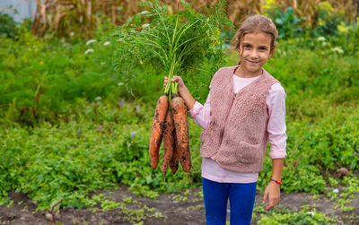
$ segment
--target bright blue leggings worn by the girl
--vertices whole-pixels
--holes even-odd
[[[206,225],[225,225],[230,199],[231,225],[250,224],[257,182],[250,184],[218,183],[202,177]]]

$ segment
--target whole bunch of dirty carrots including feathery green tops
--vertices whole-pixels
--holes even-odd
[[[211,61],[215,72],[223,63],[220,30],[232,27],[225,14],[225,0],[219,0],[206,13],[197,11],[181,0],[179,9],[172,13],[158,1],[144,1],[145,11],[137,13],[111,36],[118,37],[114,66],[121,75],[127,91],[130,79],[138,71],[154,70],[168,76],[164,94],[157,102],[150,140],[151,165],[156,169],[163,140],[162,173],[168,167],[173,173],[179,168],[188,173],[192,167],[189,144],[187,107],[178,96],[178,83],[171,82],[174,74],[195,77],[200,68]],[[145,21],[143,20],[145,19]],[[143,22],[150,22],[145,23]],[[209,72],[208,72],[209,73]],[[211,73],[212,74],[212,73]]]

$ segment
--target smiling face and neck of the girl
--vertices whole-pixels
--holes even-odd
[[[262,66],[272,56],[271,35],[265,32],[247,33],[241,39],[239,48],[241,66],[236,75],[241,77],[254,77],[262,74]]]

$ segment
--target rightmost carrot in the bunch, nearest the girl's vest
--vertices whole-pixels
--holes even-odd
[[[171,113],[176,130],[177,143],[179,145],[179,157],[182,169],[189,173],[192,164],[189,153],[187,107],[179,96],[171,100]]]

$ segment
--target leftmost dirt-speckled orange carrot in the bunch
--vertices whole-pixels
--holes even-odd
[[[151,167],[153,169],[157,168],[159,161],[159,151],[162,142],[162,128],[164,124],[164,119],[166,117],[168,109],[168,97],[167,95],[162,95],[157,101],[156,110],[154,112],[154,117],[152,121],[152,131],[150,139],[150,157],[151,157]]]

